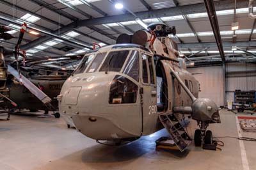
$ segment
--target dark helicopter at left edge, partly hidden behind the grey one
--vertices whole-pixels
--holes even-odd
[[[3,40],[15,38],[8,31],[11,31],[11,29],[0,26],[0,38]],[[76,63],[77,60],[81,59],[81,56],[29,59],[26,56],[26,51],[19,49],[24,33],[26,33],[26,23],[22,24],[20,28],[15,50],[0,46],[0,107],[1,109],[8,109],[6,120],[10,120],[10,112],[15,109],[29,109],[30,111],[40,109],[44,110],[45,114],[54,111],[55,118],[60,118],[58,101],[55,98],[60,93],[61,86],[67,79],[68,74],[74,69],[61,69],[52,65],[52,63],[58,62],[58,65],[61,61]],[[11,59],[13,54],[15,61]],[[22,56],[23,59],[20,60],[19,56]],[[37,65],[40,65],[40,69]],[[60,75],[41,75],[39,70],[42,70],[43,66],[47,68],[45,72],[56,72]],[[53,68],[49,69],[50,66],[53,66]]]

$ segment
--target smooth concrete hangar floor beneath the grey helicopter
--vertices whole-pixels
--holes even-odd
[[[214,136],[237,137],[236,115],[221,111],[221,121],[210,125]],[[193,122],[188,131],[194,133],[195,128]],[[191,144],[180,153],[156,149],[155,140],[164,134],[161,130],[124,146],[104,146],[68,129],[62,118],[12,115],[10,121],[0,121],[0,169],[243,169],[237,139],[221,138],[222,151]],[[244,146],[250,169],[256,169],[256,143],[244,141]]]

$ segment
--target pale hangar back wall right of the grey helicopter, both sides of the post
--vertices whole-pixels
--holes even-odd
[[[200,82],[199,97],[211,98],[218,106],[223,105],[223,70],[222,66],[188,68]],[[234,101],[234,91],[256,90],[256,64],[226,64],[227,100]]]

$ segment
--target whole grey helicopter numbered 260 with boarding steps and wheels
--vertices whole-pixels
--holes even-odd
[[[195,145],[211,145],[207,127],[220,123],[218,107],[198,98],[199,82],[170,38],[175,32],[153,23],[86,54],[57,97],[60,114],[97,142],[134,141],[166,128],[180,151],[192,141],[179,116],[188,114],[199,126]]]

